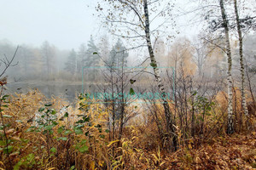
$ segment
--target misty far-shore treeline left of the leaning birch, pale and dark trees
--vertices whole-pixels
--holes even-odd
[[[17,46],[11,42],[0,42],[0,54],[10,59]],[[119,53],[119,52],[123,53]],[[78,50],[60,50],[49,42],[43,42],[41,47],[20,45],[15,55],[14,67],[5,73],[10,82],[18,81],[81,81],[82,69],[94,80],[99,76],[98,66],[107,66],[125,58],[127,63],[128,52],[121,40],[113,44],[110,49],[108,39],[101,39],[96,45],[93,37],[87,44],[80,45]]]

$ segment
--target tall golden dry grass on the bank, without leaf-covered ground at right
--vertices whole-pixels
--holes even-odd
[[[222,95],[216,96],[216,105],[205,117],[203,138],[191,138],[176,120],[179,150],[172,153],[163,150],[158,126],[147,110],[141,113],[143,118],[131,119],[121,141],[110,141],[108,110],[94,101],[79,97],[69,104],[54,97],[46,99],[38,91],[15,94],[1,107],[0,168],[193,169],[204,154],[196,152],[201,144],[213,144],[225,135],[226,103]],[[155,109],[163,122],[162,106]]]

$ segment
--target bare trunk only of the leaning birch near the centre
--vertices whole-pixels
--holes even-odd
[[[151,43],[151,37],[150,37],[150,24],[149,24],[149,14],[148,14],[148,1],[143,0],[143,8],[145,13],[145,34],[146,34],[146,41],[148,45],[148,53],[151,60],[151,66],[154,68],[154,77],[156,82],[158,82],[158,88],[160,90],[160,93],[163,94],[164,98],[164,109],[165,109],[165,116],[166,116],[166,130],[170,134],[170,137],[172,138],[172,145],[174,147],[174,150],[177,150],[177,135],[175,131],[175,122],[172,117],[172,113],[170,111],[170,106],[168,105],[167,99],[166,99],[166,90],[164,88],[163,82],[160,78],[159,68],[156,63],[156,59],[154,57],[154,51],[152,48]]]

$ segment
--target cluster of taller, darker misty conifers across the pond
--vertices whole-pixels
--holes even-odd
[[[81,44],[78,51],[74,49],[68,55],[65,71],[69,76],[81,79],[83,71],[87,80],[95,81],[102,78],[101,71],[110,66],[119,67],[124,61],[127,64],[128,51],[119,39],[109,50],[108,40],[96,46],[92,37],[87,44]]]

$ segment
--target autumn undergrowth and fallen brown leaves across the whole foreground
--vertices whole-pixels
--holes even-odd
[[[199,105],[199,104],[198,104]],[[1,95],[1,169],[252,169],[256,134],[209,135],[184,140],[163,150],[157,126],[132,120],[121,141],[110,141],[108,110],[79,96],[76,104],[46,99],[38,91]],[[146,115],[146,116],[145,116]],[[223,122],[206,118],[206,133]],[[209,123],[207,123],[209,122]],[[212,123],[212,124],[211,124]],[[200,142],[199,142],[200,141]]]

